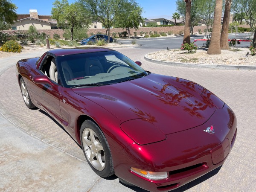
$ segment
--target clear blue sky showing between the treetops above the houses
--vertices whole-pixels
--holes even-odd
[[[17,14],[29,14],[29,9],[37,9],[38,15],[51,15],[52,3],[55,0],[11,0],[18,9]],[[76,0],[68,0],[74,3]],[[172,14],[176,11],[175,0],[137,0],[143,7],[143,17],[148,19],[166,18],[172,19]]]

